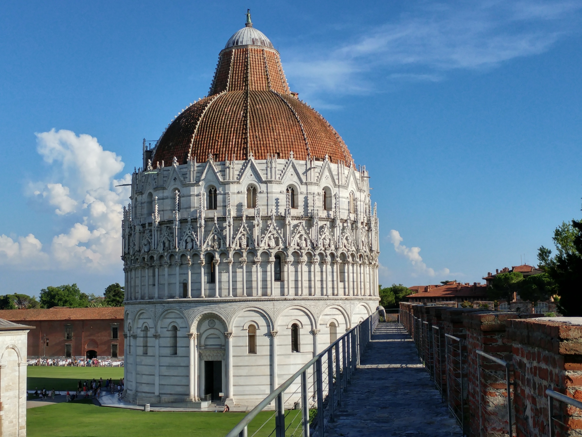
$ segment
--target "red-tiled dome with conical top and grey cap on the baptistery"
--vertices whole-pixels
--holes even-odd
[[[279,52],[252,27],[237,31],[220,52],[208,96],[176,117],[155,146],[154,167],[209,154],[215,161],[276,156],[352,163],[335,129],[289,90]]]

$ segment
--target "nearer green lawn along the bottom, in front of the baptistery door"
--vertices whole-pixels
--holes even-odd
[[[264,411],[249,426],[253,435],[273,411]],[[296,417],[299,410],[288,411],[286,424]],[[47,407],[27,410],[27,435],[29,437],[224,437],[245,413],[198,413],[198,412],[158,412],[126,410],[123,408],[97,407],[88,403],[60,403]],[[292,436],[299,424],[298,417],[286,435]],[[267,437],[275,426],[271,418],[257,434]],[[296,432],[300,435],[301,429]]]

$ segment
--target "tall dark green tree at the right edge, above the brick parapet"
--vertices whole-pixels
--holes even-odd
[[[555,282],[558,310],[565,316],[582,316],[582,221],[563,222],[553,233],[556,255],[541,246],[540,268]]]

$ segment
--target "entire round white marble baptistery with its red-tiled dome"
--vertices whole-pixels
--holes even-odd
[[[132,176],[124,399],[252,406],[373,312],[369,180],[247,14]]]

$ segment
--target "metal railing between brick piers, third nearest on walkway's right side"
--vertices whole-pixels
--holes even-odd
[[[463,433],[468,432],[467,381],[463,375],[466,359],[463,360],[463,340],[450,334],[445,334],[446,356],[446,399],[450,414],[455,417]]]

